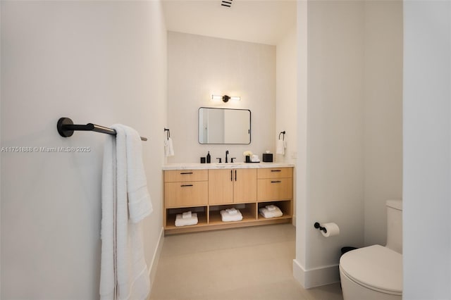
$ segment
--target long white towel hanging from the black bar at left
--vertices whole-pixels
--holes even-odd
[[[152,213],[140,135],[111,126],[102,174],[100,299],[146,299],[150,292],[141,220]]]

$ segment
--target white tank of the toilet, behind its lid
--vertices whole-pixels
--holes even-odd
[[[387,200],[387,245],[402,254],[402,200]]]

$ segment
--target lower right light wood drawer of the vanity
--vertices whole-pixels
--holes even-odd
[[[257,180],[257,201],[292,199],[292,179],[259,179]]]

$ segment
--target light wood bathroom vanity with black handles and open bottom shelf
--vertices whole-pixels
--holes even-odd
[[[287,163],[164,165],[165,234],[291,222],[293,167]],[[283,215],[259,214],[259,208],[271,204]],[[219,212],[227,208],[239,209],[242,220],[223,222]],[[175,227],[175,216],[186,211],[197,213],[197,225]]]

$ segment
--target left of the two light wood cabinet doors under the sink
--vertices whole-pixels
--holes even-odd
[[[209,170],[209,204],[233,202],[233,170]]]

